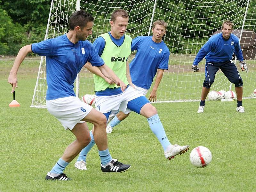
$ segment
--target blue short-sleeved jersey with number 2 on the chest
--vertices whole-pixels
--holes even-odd
[[[156,43],[152,36],[138,36],[132,40],[132,51],[137,50],[130,63],[132,83],[149,89],[157,69],[168,69],[170,51],[163,41]]]

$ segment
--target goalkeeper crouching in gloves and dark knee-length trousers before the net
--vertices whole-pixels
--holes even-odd
[[[243,54],[239,45],[237,36],[231,34],[233,23],[230,20],[223,22],[221,33],[213,35],[199,50],[191,68],[193,71],[198,72],[198,63],[205,57],[205,80],[201,93],[201,101],[197,113],[204,112],[204,104],[210,87],[214,82],[214,77],[220,69],[228,80],[235,84],[237,95],[237,108],[236,111],[244,113],[242,106],[243,97],[243,80],[233,63],[233,53],[236,53],[237,59],[240,61],[242,71],[248,73],[246,63],[244,62]]]

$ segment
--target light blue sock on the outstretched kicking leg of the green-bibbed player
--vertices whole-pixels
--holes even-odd
[[[159,142],[161,143],[161,145],[165,151],[166,148],[169,145],[171,145],[171,143],[168,140],[168,138],[166,137],[166,134],[164,132],[164,127],[159,119],[158,114],[147,118],[147,120],[148,120],[148,124],[149,124],[151,131],[156,135],[157,139],[159,140]]]

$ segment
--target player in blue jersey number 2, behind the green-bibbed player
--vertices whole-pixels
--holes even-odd
[[[132,51],[136,50],[135,58],[130,63],[130,74],[135,89],[146,95],[153,79],[156,81],[150,92],[148,100],[156,100],[156,91],[160,84],[164,69],[168,69],[169,49],[162,40],[166,33],[167,24],[163,20],[153,23],[153,36],[138,36],[132,40]],[[111,133],[113,127],[123,121],[130,113],[124,114],[120,111],[107,126],[107,133]]]

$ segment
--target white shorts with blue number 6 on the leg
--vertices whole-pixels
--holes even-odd
[[[46,108],[66,130],[72,130],[77,123],[84,123],[81,120],[92,110],[92,106],[74,96],[46,100]]]

